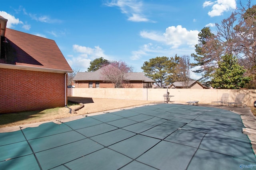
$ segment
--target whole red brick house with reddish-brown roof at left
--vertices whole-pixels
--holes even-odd
[[[73,71],[55,41],[6,23],[0,16],[0,113],[64,107]]]

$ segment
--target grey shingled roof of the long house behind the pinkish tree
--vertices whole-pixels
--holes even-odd
[[[154,80],[152,80],[151,78],[148,78],[147,76],[145,76],[143,74],[143,72],[128,72],[126,74],[127,79],[130,81],[143,81],[143,82],[155,82]],[[96,70],[94,72],[77,72],[76,76],[73,78],[73,80],[94,80],[94,81],[102,81],[102,75],[99,70]]]

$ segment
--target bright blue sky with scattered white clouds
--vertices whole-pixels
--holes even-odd
[[[143,72],[145,61],[195,53],[198,33],[214,32],[240,0],[8,0],[7,27],[53,39],[73,70],[103,57]],[[247,0],[242,0],[246,3]],[[256,4],[256,0],[251,0]],[[196,75],[194,75],[196,79]]]

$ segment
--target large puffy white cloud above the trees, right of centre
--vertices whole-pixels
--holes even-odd
[[[132,51],[131,60],[142,58],[154,58],[156,56],[174,57],[178,55],[190,55],[194,53],[194,45],[198,43],[197,30],[187,30],[181,25],[166,28],[165,33],[156,31],[141,31],[140,36],[160,43],[161,46],[148,43],[137,51]],[[173,50],[175,48],[175,50]]]

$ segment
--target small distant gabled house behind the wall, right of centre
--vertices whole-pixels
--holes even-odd
[[[166,86],[166,88],[184,88],[184,86],[186,83],[185,82],[174,82],[168,86]],[[204,85],[202,85],[200,82],[196,81],[196,80],[190,80],[188,81],[188,88],[192,88],[192,89],[206,89],[207,87],[205,87]]]

